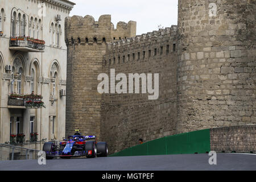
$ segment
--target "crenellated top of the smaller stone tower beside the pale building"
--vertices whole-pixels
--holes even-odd
[[[72,16],[65,19],[65,42],[72,44],[102,44],[116,38],[136,35],[136,22],[118,22],[117,28],[111,22],[111,15],[101,15],[98,21],[93,16]]]

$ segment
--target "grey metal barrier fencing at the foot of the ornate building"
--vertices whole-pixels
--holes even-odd
[[[0,160],[38,159],[40,150],[0,143]]]

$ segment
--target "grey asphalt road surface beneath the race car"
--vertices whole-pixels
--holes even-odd
[[[208,154],[108,157],[96,159],[53,159],[0,161],[0,171],[190,171],[256,170],[256,155],[217,154],[217,165]]]

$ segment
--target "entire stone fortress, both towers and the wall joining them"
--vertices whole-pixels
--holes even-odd
[[[255,125],[255,10],[249,0],[182,0],[177,26],[141,36],[135,22],[114,30],[110,15],[67,18],[67,135],[97,134],[113,153],[139,138]],[[110,69],[159,73],[158,100],[99,94],[97,76]]]

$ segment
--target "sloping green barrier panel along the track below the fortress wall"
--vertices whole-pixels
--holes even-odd
[[[210,151],[210,130],[163,137],[127,148],[110,156],[202,154]]]

